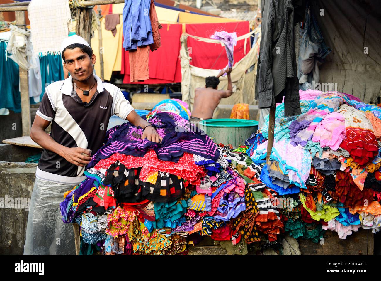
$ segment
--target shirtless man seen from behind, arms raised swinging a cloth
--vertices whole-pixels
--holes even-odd
[[[196,88],[194,90],[194,105],[189,121],[199,122],[204,119],[213,118],[213,113],[221,99],[230,97],[232,92],[232,79],[230,77],[232,69],[222,69],[218,76],[205,78],[205,88]],[[219,77],[226,72],[227,90],[218,90]]]

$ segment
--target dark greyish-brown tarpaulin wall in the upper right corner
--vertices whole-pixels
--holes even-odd
[[[380,2],[317,0],[311,4],[325,42],[332,48],[320,67],[320,82],[337,83],[339,92],[377,103],[381,96]]]

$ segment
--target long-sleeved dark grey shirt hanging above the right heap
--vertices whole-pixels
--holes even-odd
[[[301,114],[294,47],[294,8],[302,3],[300,0],[261,2],[262,35],[255,99],[259,100],[259,108],[270,108],[275,107],[276,102],[282,102],[284,96],[285,116]]]

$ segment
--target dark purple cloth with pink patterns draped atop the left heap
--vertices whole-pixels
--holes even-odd
[[[155,126],[163,138],[160,144],[141,139],[143,129],[131,123],[115,126],[106,133],[104,144],[92,157],[86,170],[93,168],[101,159],[114,153],[144,157],[149,149],[156,152],[160,160],[177,162],[184,152],[200,155],[217,161],[219,150],[203,131],[192,131],[189,121],[171,112],[158,112],[148,122]]]

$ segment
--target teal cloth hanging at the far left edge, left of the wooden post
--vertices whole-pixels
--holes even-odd
[[[0,108],[20,113],[19,66],[8,58],[10,53],[6,51],[6,45],[6,42],[0,41]]]

